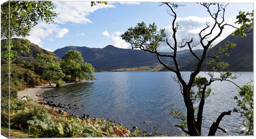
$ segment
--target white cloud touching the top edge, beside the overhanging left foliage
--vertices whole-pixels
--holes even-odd
[[[95,5],[87,1],[53,1],[56,6],[55,12],[59,15],[55,18],[57,23],[92,23],[87,16],[97,9],[114,8],[114,5]]]

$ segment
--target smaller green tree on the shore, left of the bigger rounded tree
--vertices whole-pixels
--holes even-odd
[[[46,63],[45,67],[43,68],[42,76],[44,79],[47,79],[49,85],[52,86],[51,80],[56,81],[62,79],[64,77],[64,73],[62,73],[59,63],[49,62]]]

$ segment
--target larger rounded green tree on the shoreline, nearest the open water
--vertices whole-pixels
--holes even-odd
[[[69,50],[62,57],[61,62],[62,71],[66,75],[71,76],[71,81],[78,81],[81,79],[93,79],[94,68],[89,63],[83,63],[82,54],[76,50]]]

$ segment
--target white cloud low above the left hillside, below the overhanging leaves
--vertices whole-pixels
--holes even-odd
[[[57,24],[46,24],[46,23],[38,23],[33,30],[29,33],[30,35],[26,37],[32,43],[39,45],[42,47],[43,41],[42,39],[47,38],[47,40],[52,41],[52,37],[64,37],[66,33],[69,32],[67,28],[60,28]]]

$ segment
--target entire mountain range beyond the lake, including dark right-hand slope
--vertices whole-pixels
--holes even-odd
[[[253,71],[253,32],[247,34],[247,37],[236,37],[229,35],[216,46],[225,46],[225,42],[230,41],[237,44],[237,47],[231,52],[229,57],[221,58],[221,60],[230,63],[228,70],[230,71]],[[216,46],[213,47],[212,52],[217,51]],[[128,69],[133,71],[136,69],[147,69],[160,67],[160,71],[167,71],[156,57],[156,54],[135,50],[135,49],[120,49],[112,45],[108,45],[102,49],[88,48],[85,46],[66,46],[57,49],[54,53],[60,58],[64,56],[68,50],[77,50],[82,53],[84,60],[91,63],[96,69],[104,71],[122,71]],[[202,50],[194,50],[198,56],[201,56]],[[173,52],[160,52],[163,54],[173,54]],[[161,58],[163,62],[173,67],[172,58]],[[181,71],[192,71],[197,65],[197,59],[191,55],[188,49],[177,52],[177,60]],[[206,61],[206,60],[205,60]],[[162,69],[161,69],[162,68]],[[119,70],[118,70],[119,69]],[[122,70],[120,70],[122,69]],[[208,70],[205,62],[202,70]]]

